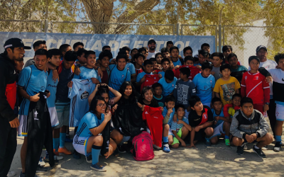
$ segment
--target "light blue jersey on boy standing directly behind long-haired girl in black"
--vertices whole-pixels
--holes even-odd
[[[116,64],[109,65],[109,69],[111,70],[111,74],[109,77],[109,86],[119,91],[120,86],[124,81],[131,81],[131,73],[129,72],[129,69],[127,67],[124,68],[124,70],[120,71],[117,69]],[[109,98],[114,98],[114,93],[109,91]]]

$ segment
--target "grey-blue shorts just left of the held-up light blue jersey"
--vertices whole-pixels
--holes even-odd
[[[60,101],[55,102],[56,112],[58,113],[59,124],[55,126],[58,129],[62,126],[69,126],[69,112],[70,112],[70,102],[61,103]]]

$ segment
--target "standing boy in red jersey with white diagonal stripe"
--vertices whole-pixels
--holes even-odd
[[[253,108],[262,114],[269,109],[270,87],[266,82],[266,77],[258,72],[259,58],[249,57],[249,67],[251,71],[245,72],[241,79],[241,96],[253,99]]]

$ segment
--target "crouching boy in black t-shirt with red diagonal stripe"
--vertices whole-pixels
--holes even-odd
[[[190,98],[191,111],[188,115],[192,131],[190,132],[190,146],[195,147],[197,141],[204,138],[207,146],[211,145],[210,137],[213,135],[213,114],[207,105],[203,105],[198,96]]]

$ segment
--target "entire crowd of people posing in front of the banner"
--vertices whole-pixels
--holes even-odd
[[[53,166],[60,154],[83,154],[91,169],[106,171],[99,156],[128,152],[143,131],[165,153],[202,141],[217,144],[220,137],[239,155],[246,143],[255,143],[253,152],[266,157],[262,150],[273,138],[280,151],[284,54],[269,60],[260,45],[246,69],[230,45],[210,54],[204,43],[194,57],[188,46],[182,58],[172,41],[160,52],[155,40],[140,49],[122,47],[116,57],[109,46],[97,56],[82,42],[50,50],[45,43],[33,43],[35,55],[24,67],[31,47],[20,39],[7,40],[0,55],[0,176],[14,174],[9,169],[17,132],[24,137],[21,177],[36,176],[45,162]],[[75,127],[73,139],[69,127]],[[72,142],[73,152],[65,142]]]

